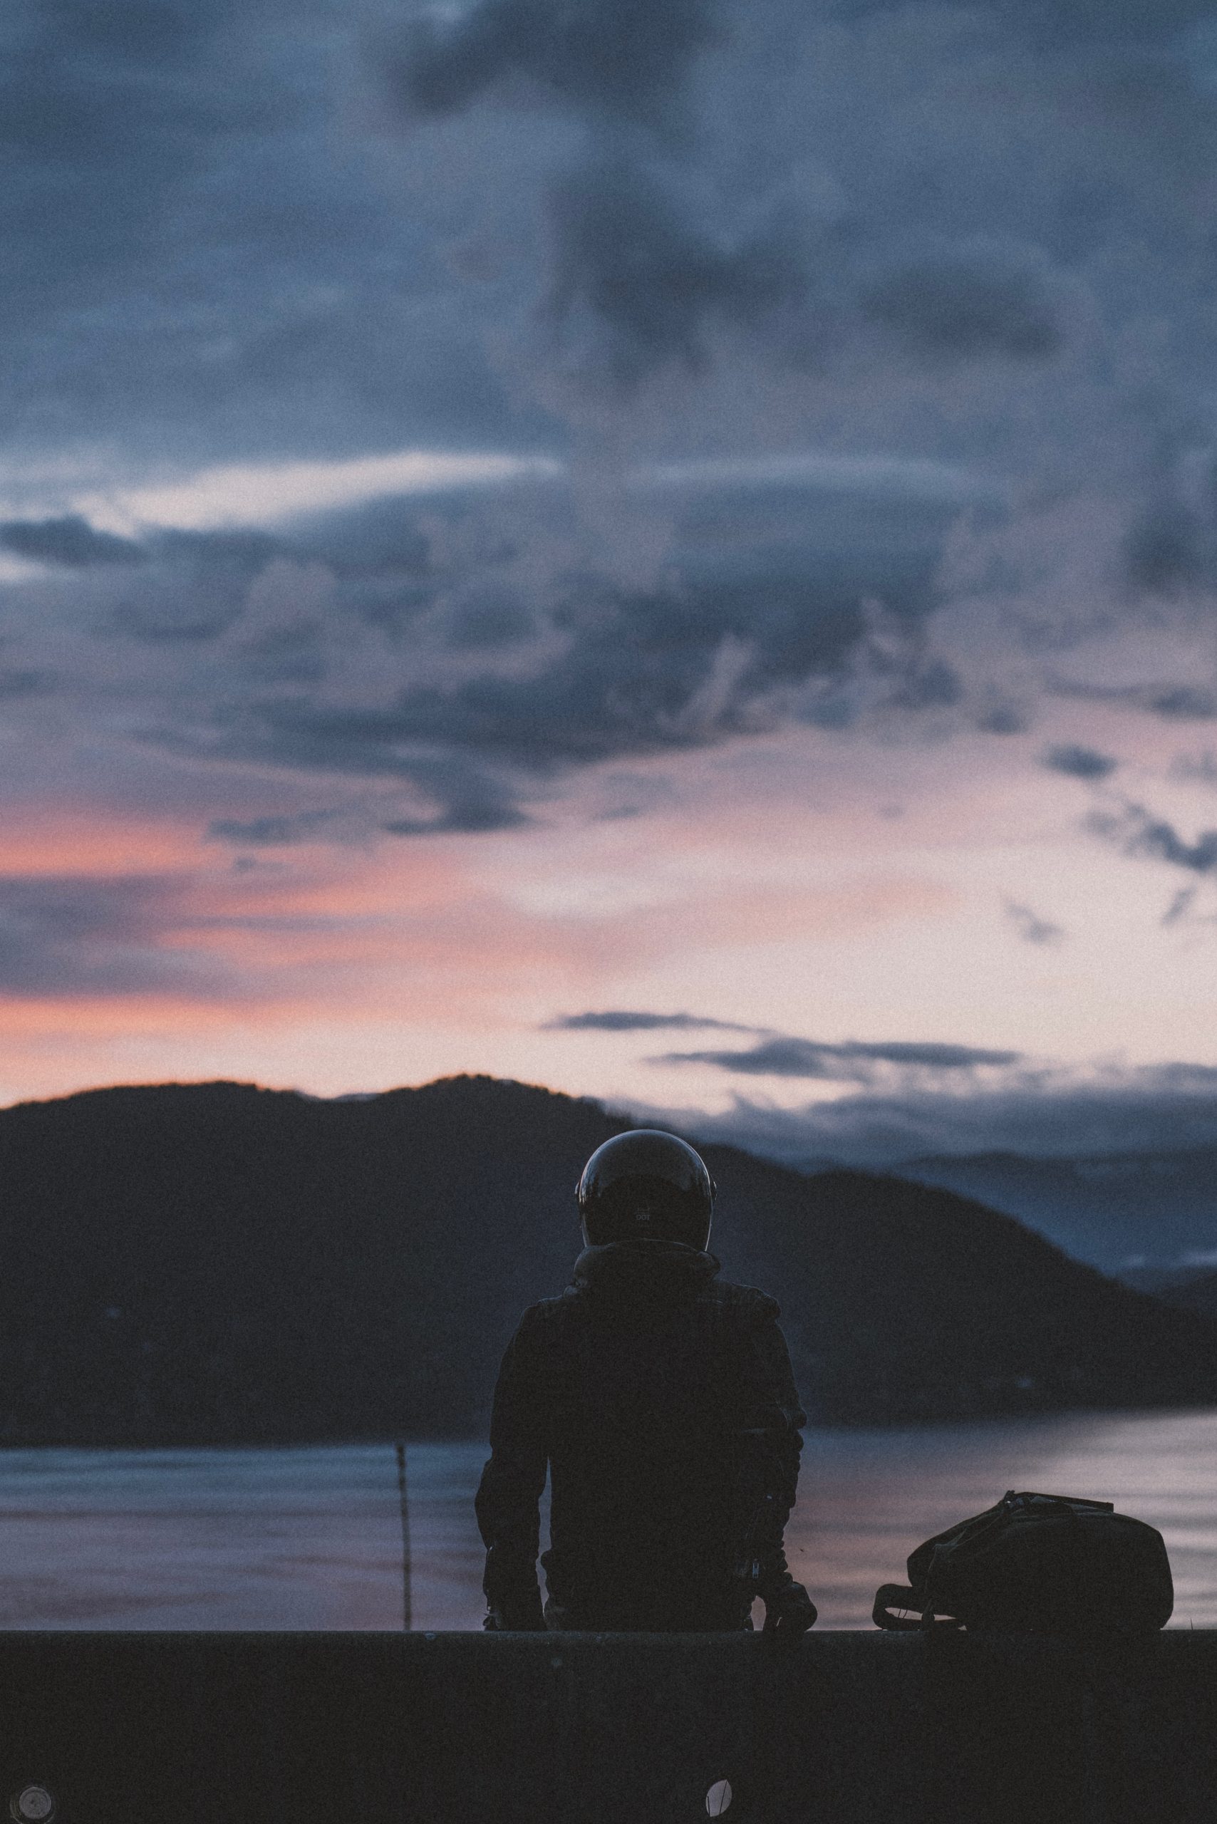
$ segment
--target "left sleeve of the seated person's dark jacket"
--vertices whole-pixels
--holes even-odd
[[[540,1549],[538,1503],[546,1487],[549,1421],[544,1375],[531,1311],[507,1344],[491,1415],[491,1456],[482,1470],[474,1501],[485,1578],[482,1589],[493,1609],[531,1611],[538,1605],[536,1552]]]

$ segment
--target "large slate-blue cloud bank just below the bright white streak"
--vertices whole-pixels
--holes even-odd
[[[920,629],[941,533],[983,492],[951,465],[794,452],[639,463],[608,533],[577,478],[511,467],[272,525],[146,525],[137,565],[0,591],[5,671],[58,679],[80,726],[124,702],[126,742],[193,768],[294,775],[303,804],[268,779],[265,810],[206,819],[221,841],[509,830],[580,768],[816,720],[825,693],[847,719],[854,697],[951,704]],[[400,792],[281,823],[334,775]]]

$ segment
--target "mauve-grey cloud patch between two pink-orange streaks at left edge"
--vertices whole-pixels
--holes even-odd
[[[186,886],[168,876],[0,877],[0,992],[36,996],[235,989],[223,965],[173,947]]]

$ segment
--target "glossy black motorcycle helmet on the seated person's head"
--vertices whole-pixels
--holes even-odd
[[[588,1246],[629,1238],[710,1240],[713,1178],[675,1135],[637,1127],[597,1147],[578,1180],[578,1213]]]

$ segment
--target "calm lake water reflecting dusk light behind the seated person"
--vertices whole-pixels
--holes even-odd
[[[414,1627],[480,1627],[482,1445],[411,1445]],[[825,1627],[870,1627],[910,1549],[1005,1488],[1166,1538],[1171,1627],[1217,1625],[1217,1412],[806,1434],[786,1530]],[[0,1627],[400,1627],[387,1446],[0,1452]]]

